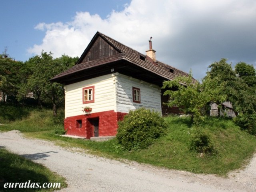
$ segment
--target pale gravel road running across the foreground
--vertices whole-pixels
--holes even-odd
[[[0,148],[43,164],[67,179],[61,192],[255,192],[256,155],[228,178],[119,162],[24,138],[19,131],[0,133]]]

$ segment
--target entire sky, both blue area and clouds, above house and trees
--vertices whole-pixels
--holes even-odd
[[[256,67],[255,0],[2,0],[0,52],[80,56],[100,31],[196,79],[221,58]]]

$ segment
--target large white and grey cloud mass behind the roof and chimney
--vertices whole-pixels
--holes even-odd
[[[132,0],[107,18],[77,12],[67,23],[40,23],[42,44],[28,49],[80,56],[96,31],[142,53],[153,37],[157,58],[201,78],[209,62],[222,57],[255,64],[256,2],[254,0]]]

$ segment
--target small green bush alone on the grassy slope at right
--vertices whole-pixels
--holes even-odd
[[[204,128],[196,128],[194,133],[192,133],[192,139],[190,142],[190,149],[196,150],[199,153],[205,154],[216,154],[212,142],[211,142],[210,133],[207,129]]]

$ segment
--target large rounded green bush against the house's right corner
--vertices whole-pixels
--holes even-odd
[[[167,124],[158,112],[145,108],[130,111],[118,123],[116,138],[126,150],[147,148],[165,133]]]

